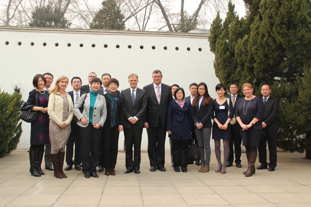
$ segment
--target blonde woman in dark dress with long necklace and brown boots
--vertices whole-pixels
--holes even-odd
[[[263,105],[260,98],[253,95],[252,84],[245,83],[242,90],[245,98],[239,99],[236,105],[235,117],[241,126],[240,133],[248,160],[248,169],[243,174],[245,174],[245,177],[250,177],[255,173],[254,164],[262,133]]]

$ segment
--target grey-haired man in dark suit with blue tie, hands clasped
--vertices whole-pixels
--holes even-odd
[[[138,76],[131,73],[128,76],[130,88],[121,91],[124,101],[124,139],[125,139],[125,167],[124,173],[134,170],[140,173],[140,147],[142,144],[142,129],[145,127],[145,112],[147,108],[147,94],[145,90],[137,88]],[[121,117],[120,117],[121,119]],[[134,161],[133,161],[134,145]]]

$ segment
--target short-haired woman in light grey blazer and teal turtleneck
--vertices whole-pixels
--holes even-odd
[[[105,98],[98,94],[102,81],[94,78],[91,82],[91,92],[82,95],[73,107],[76,115],[81,135],[81,154],[85,178],[98,178],[96,165],[99,159],[98,149],[102,127],[107,116]],[[79,108],[84,106],[81,114]]]

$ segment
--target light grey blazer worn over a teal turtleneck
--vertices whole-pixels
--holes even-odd
[[[85,98],[86,96],[86,98]],[[84,101],[85,98],[85,101]],[[89,124],[90,119],[90,93],[83,94],[77,101],[77,103],[73,106],[73,112],[76,115],[78,121],[78,125],[81,127],[87,127]],[[81,114],[79,107],[83,105],[84,101],[84,109]],[[101,126],[104,125],[104,122],[106,120],[107,116],[107,109],[106,109],[106,101],[105,98],[102,95],[97,94],[96,101],[94,104],[94,110],[93,110],[93,117],[92,117],[92,123],[100,124]],[[81,118],[85,118],[87,123],[86,125],[82,124]]]

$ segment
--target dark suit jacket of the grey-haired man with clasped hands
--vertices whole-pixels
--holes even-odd
[[[147,94],[146,91],[140,88],[136,90],[136,96],[133,106],[132,101],[132,88],[128,88],[121,91],[120,96],[123,98],[124,103],[124,128],[131,128],[133,125],[128,118],[136,116],[138,121],[135,127],[138,129],[145,127],[145,113],[147,109]]]

